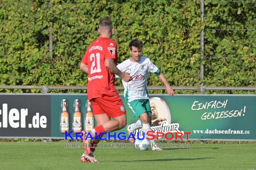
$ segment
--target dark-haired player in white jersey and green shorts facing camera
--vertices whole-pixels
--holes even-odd
[[[131,57],[117,65],[120,71],[127,72],[132,76],[131,81],[125,82],[122,80],[124,85],[124,98],[134,115],[140,118],[136,123],[132,123],[128,126],[127,131],[129,134],[141,127],[145,134],[151,131],[152,112],[147,91],[147,79],[150,72],[159,76],[170,96],[174,95],[173,89],[170,87],[159,68],[157,68],[149,58],[141,56],[142,47],[143,43],[140,40],[132,40],[129,43]],[[130,141],[134,143],[134,139],[130,138]],[[155,145],[154,140],[150,140],[150,145],[152,150],[162,150]]]

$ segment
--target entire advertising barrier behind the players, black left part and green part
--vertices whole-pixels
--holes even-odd
[[[135,123],[137,118],[123,95],[121,98],[127,111],[127,125]],[[0,94],[0,138],[65,139],[65,129],[84,130],[86,102],[87,94]],[[155,134],[191,132],[189,140],[256,140],[256,95],[151,94],[150,107],[151,129]],[[75,109],[81,117],[73,115]],[[126,128],[117,132],[126,133]],[[134,134],[141,135],[142,129]],[[75,137],[75,133],[71,136]],[[167,136],[170,138],[170,134]]]

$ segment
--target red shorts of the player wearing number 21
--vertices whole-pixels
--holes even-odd
[[[106,113],[108,117],[115,118],[126,114],[124,103],[118,94],[111,97],[92,98],[90,101],[93,106],[94,115]]]

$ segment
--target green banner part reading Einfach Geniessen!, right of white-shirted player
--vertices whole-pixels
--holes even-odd
[[[152,96],[162,119],[151,129],[191,132],[190,140],[256,140],[255,103],[255,96]]]

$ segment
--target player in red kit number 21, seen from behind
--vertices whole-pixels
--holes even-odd
[[[88,47],[84,58],[81,61],[80,69],[88,74],[88,100],[93,106],[93,114],[97,121],[97,126],[90,131],[91,136],[95,137],[101,132],[113,132],[126,126],[126,111],[124,104],[116,92],[115,74],[124,81],[130,81],[128,73],[121,72],[117,67],[116,43],[110,39],[114,33],[112,21],[105,17],[100,21],[98,32],[100,37]],[[110,120],[113,118],[113,120]],[[84,138],[88,134],[83,131]],[[81,156],[83,162],[97,162],[93,155],[93,148],[90,138],[84,140],[87,147]],[[93,141],[92,144],[96,144]]]

